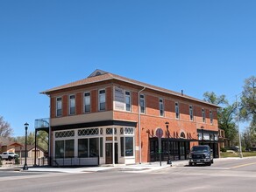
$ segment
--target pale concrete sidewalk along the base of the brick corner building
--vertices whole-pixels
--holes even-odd
[[[187,165],[188,161],[173,161],[172,167]],[[55,172],[55,173],[85,173],[85,172],[100,172],[100,171],[138,171],[138,172],[149,172],[153,170],[159,170],[163,168],[172,168],[167,165],[166,161],[161,162],[148,162],[133,165],[115,164],[115,165],[102,165],[98,167],[84,167],[84,168],[51,168],[51,167],[29,167],[28,170],[23,170],[23,167],[8,167],[0,168],[1,170],[10,171],[30,171],[30,172]]]

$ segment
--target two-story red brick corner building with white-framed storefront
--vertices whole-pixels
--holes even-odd
[[[187,159],[198,143],[218,157],[218,106],[203,100],[101,70],[42,93],[53,165],[159,161],[158,128],[162,161]]]

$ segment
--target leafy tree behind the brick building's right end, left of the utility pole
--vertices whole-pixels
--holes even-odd
[[[238,129],[234,121],[234,113],[236,105],[229,105],[225,95],[217,96],[216,93],[203,93],[203,100],[215,105],[222,105],[223,107],[217,109],[218,127],[224,129],[225,137],[231,142],[235,142],[238,137]]]

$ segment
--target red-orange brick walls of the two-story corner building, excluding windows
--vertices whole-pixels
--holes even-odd
[[[101,86],[104,88],[104,86]],[[139,109],[139,98],[138,91],[135,90],[134,87],[131,89],[129,87],[125,87],[126,90],[131,90],[132,94],[132,112],[119,112],[113,111],[113,118],[115,120],[128,120],[138,122],[138,109]],[[98,87],[88,87],[87,91],[90,91],[91,95],[91,113],[98,112]],[[106,111],[113,110],[113,87],[105,86],[106,90]],[[83,110],[83,90],[76,90],[75,92],[75,106],[76,106],[76,114],[82,114]],[[166,135],[166,122],[169,122],[169,131],[170,136],[176,138],[180,136],[181,132],[184,132],[186,138],[197,139],[197,128],[201,126],[206,130],[214,130],[217,131],[217,110],[214,106],[208,106],[207,104],[203,104],[197,101],[188,100],[179,98],[176,96],[170,95],[159,95],[157,92],[147,93],[145,94],[146,101],[146,113],[141,114],[141,146],[142,146],[142,161],[149,161],[149,136],[153,136],[156,128],[161,127],[164,130],[164,137]],[[62,96],[62,116],[68,115],[68,95],[69,93],[65,93]],[[160,117],[159,110],[159,99],[163,99],[164,101],[164,117]],[[56,98],[51,98],[51,117],[55,117],[56,111]],[[180,119],[175,119],[175,102],[179,103],[180,107]],[[194,120],[189,120],[189,105],[193,106],[194,110]],[[205,110],[205,120],[203,123],[202,118],[202,108]],[[210,125],[210,110],[213,113],[213,125]],[[136,143],[135,146],[139,146],[139,125],[135,130],[136,134]],[[196,143],[196,142],[195,142]],[[193,144],[195,144],[193,143]],[[192,145],[193,145],[192,144]],[[136,151],[136,159],[137,162],[139,160],[139,153]]]

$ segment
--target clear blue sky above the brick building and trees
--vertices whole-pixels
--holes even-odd
[[[96,69],[232,102],[255,75],[256,1],[2,0],[0,115],[13,136],[49,116],[41,91]]]

